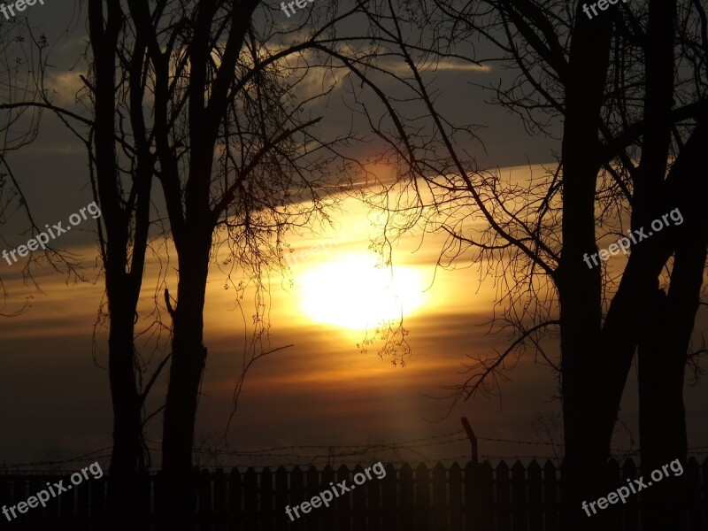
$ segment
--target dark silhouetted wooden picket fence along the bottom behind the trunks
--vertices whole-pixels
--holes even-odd
[[[184,529],[204,531],[556,531],[559,512],[560,473],[550,461],[542,468],[536,461],[510,468],[504,461],[453,463],[445,468],[419,465],[386,466],[381,480],[373,474],[358,488],[335,499],[329,508],[313,509],[291,522],[285,513],[309,500],[331,483],[354,484],[353,469],[325,466],[319,470],[295,467],[256,471],[233,469],[229,473],[196,471],[196,521]],[[608,473],[614,484],[638,478],[632,459],[620,464],[612,459]],[[688,518],[691,531],[708,531],[708,459],[700,465],[691,458],[684,466],[688,482]],[[47,481],[64,475],[0,474],[0,504],[17,504],[43,489]],[[46,509],[30,509],[12,521],[12,529],[104,529],[101,516],[106,501],[106,478],[84,481],[54,498]],[[152,529],[161,508],[158,493],[161,476],[145,476],[140,485],[144,529]],[[610,531],[641,531],[641,494],[632,496]],[[167,510],[169,510],[167,508]]]

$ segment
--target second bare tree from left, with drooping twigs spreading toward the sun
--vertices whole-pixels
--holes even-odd
[[[358,9],[313,12],[283,31],[281,13],[258,0],[127,2],[136,37],[123,61],[147,58],[142,75],[154,97],[147,129],[177,251],[175,299],[165,290],[173,331],[163,433],[168,526],[191,508],[210,266],[226,245],[227,273],[240,270],[258,283],[268,267],[282,265],[289,228],[324,216],[323,199],[338,182],[332,162],[344,169],[351,162],[336,149],[351,135],[323,140],[312,132],[321,118],[311,109],[330,92],[321,73],[333,68],[332,56],[319,52],[341,46],[352,61],[367,53],[335,34]],[[300,89],[314,75],[319,87]]]

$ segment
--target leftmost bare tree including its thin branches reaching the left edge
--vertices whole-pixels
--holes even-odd
[[[97,4],[90,3],[89,8],[95,9]],[[135,124],[129,133],[121,128],[122,112],[127,110],[133,116],[142,112],[142,102],[131,100],[131,96],[139,94],[141,83],[144,89],[140,65],[137,75],[134,72],[132,78],[119,81],[115,78],[116,57],[122,44],[119,30],[124,21],[113,17],[104,24],[102,19],[93,17],[89,22],[94,25],[90,32],[94,59],[89,73],[81,76],[84,88],[77,97],[89,100],[93,117],[86,118],[80,110],[53,103],[53,87],[47,81],[50,68],[45,50],[47,43],[43,36],[35,39],[31,32],[28,42],[31,51],[27,56],[32,58],[32,68],[27,73],[9,71],[11,79],[8,86],[19,82],[24,82],[24,85],[21,90],[13,91],[8,98],[10,103],[3,104],[2,108],[10,117],[4,129],[6,135],[12,134],[19,119],[32,115],[34,118],[26,127],[30,132],[28,136],[34,139],[40,125],[39,117],[42,112],[49,111],[86,148],[91,188],[102,210],[102,216],[97,219],[97,233],[105,273],[105,317],[108,322],[108,366],[113,407],[109,489],[112,517],[108,521],[117,528],[123,528],[135,524],[136,520],[132,519],[135,515],[126,508],[139,506],[135,485],[139,474],[147,469],[142,441],[145,399],[166,361],[164,359],[149,381],[142,385],[142,378],[149,374],[149,367],[142,363],[135,350],[134,338],[136,308],[148,252],[154,156],[142,149],[145,132],[139,129],[139,124]],[[139,140],[141,133],[143,143]],[[25,145],[23,143],[14,149]],[[19,182],[13,183],[21,195]],[[22,204],[29,209],[26,201],[23,200]],[[36,227],[34,220],[32,227],[35,231],[33,235],[42,230]],[[48,248],[47,252],[50,253],[50,263],[55,264],[59,258],[69,264],[65,255],[58,254],[56,250]],[[31,258],[35,259],[38,258]],[[151,326],[159,324],[153,322]]]

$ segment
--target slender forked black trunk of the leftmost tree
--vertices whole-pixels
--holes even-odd
[[[109,522],[114,529],[135,528],[142,470],[142,396],[136,381],[135,309],[142,286],[142,272],[149,228],[151,164],[141,156],[135,174],[135,239],[128,267],[130,220],[133,211],[123,207],[115,152],[115,64],[122,13],[118,3],[89,2],[89,37],[94,53],[96,188],[105,234],[102,253],[110,319],[109,378],[113,407],[113,451],[108,491]],[[144,151],[144,150],[143,150]],[[144,155],[144,152],[141,152]],[[127,273],[129,269],[129,273]]]

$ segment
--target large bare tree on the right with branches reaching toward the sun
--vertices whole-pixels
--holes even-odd
[[[408,75],[397,79],[422,100],[435,132],[431,138],[438,140],[418,134],[424,129],[421,119],[414,126],[405,119],[399,110],[403,98],[396,101],[388,92],[379,93],[390,120],[370,121],[389,127],[379,128],[381,138],[391,139],[392,152],[407,165],[414,197],[411,204],[396,204],[395,213],[407,216],[408,222],[391,225],[422,223],[441,230],[449,235],[441,263],[472,258],[484,273],[496,277],[502,309],[497,324],[511,326],[517,337],[501,355],[471,366],[469,379],[452,388],[455,402],[493,389],[501,371],[513,365],[514,352],[530,343],[560,378],[566,443],[564,526],[604,528],[604,515],[588,519],[581,502],[607,491],[597,471],[609,457],[620,398],[638,347],[654,350],[640,355],[645,367],[640,370],[643,418],[652,419],[643,422],[643,448],[650,441],[658,443],[651,458],[644,457],[650,466],[658,459],[666,463],[686,458],[685,438],[668,442],[664,431],[650,424],[666,420],[671,411],[670,424],[685,434],[682,371],[705,251],[702,236],[694,233],[703,235],[704,224],[695,200],[690,200],[703,197],[700,180],[691,175],[702,171],[696,146],[703,133],[696,120],[700,124],[705,107],[704,11],[696,3],[650,0],[620,4],[589,19],[581,4],[573,9],[566,2],[425,5],[430,11],[421,20],[411,15],[411,22],[433,22],[429,41],[396,18],[392,3],[386,15],[370,13],[372,25],[389,45],[389,57],[408,66]],[[689,52],[675,56],[674,35],[681,28],[689,28]],[[479,37],[493,44],[500,56],[475,51]],[[474,133],[436,111],[435,93],[423,80],[426,66],[435,68],[443,58],[512,65],[518,77],[508,87],[492,88],[496,103],[518,113],[531,131],[548,132],[554,121],[563,119],[558,169],[521,185],[481,170],[458,150],[456,136],[474,139]],[[692,67],[681,70],[677,65],[686,58]],[[389,73],[394,76],[396,71]],[[373,115],[371,108],[363,110]],[[670,156],[674,162],[667,173]],[[603,267],[588,264],[587,258],[597,252],[598,237],[625,235],[627,214],[631,228],[640,230],[674,208],[684,212],[685,224],[636,242],[620,281]],[[687,250],[681,252],[684,245]],[[681,271],[680,253],[690,281]],[[668,316],[658,294],[662,279],[670,282],[668,297],[678,312],[659,326],[658,317]],[[543,349],[542,332],[549,327],[559,329],[558,360]],[[647,332],[651,327],[661,342],[652,342],[656,336]],[[660,387],[654,387],[657,379],[662,380]],[[658,404],[648,389],[671,389],[671,398]],[[654,400],[648,400],[652,395]],[[657,408],[664,412],[659,414]],[[667,459],[669,455],[673,457]],[[666,515],[658,520],[658,528],[681,527],[680,507],[672,505],[676,499],[666,496],[663,505],[650,507]]]

